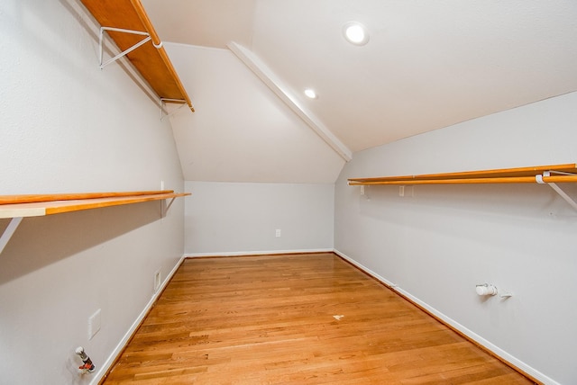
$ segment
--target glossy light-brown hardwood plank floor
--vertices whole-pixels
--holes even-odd
[[[105,385],[531,384],[334,254],[188,259]]]

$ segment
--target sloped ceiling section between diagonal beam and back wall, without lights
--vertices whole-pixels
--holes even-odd
[[[171,118],[185,179],[333,183],[344,165],[227,49],[166,43],[196,112]],[[193,87],[194,85],[194,87]]]

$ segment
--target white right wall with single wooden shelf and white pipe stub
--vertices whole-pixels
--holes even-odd
[[[354,154],[335,249],[546,383],[577,369],[577,212],[546,185],[371,186],[350,177],[574,163],[577,93]],[[577,199],[577,187],[563,188]],[[475,284],[515,294],[482,300]]]

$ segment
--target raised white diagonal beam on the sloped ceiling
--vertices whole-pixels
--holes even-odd
[[[259,77],[262,83],[267,85],[283,103],[287,104],[302,121],[307,123],[307,126],[310,129],[314,130],[321,139],[325,140],[326,144],[333,148],[340,157],[343,157],[346,162],[353,159],[353,152],[351,149],[347,148],[341,140],[336,138],[333,132],[326,128],[312,112],[307,111],[302,105],[300,105],[298,100],[287,91],[285,86],[282,85],[279,78],[275,76],[270,68],[262,63],[261,60],[252,53],[252,51],[234,41],[229,42],[226,46],[243,62],[246,67]]]

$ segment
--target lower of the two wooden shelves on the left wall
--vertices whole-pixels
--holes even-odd
[[[62,212],[174,199],[190,193],[142,191],[125,193],[63,193],[45,195],[0,195],[0,218],[40,217]]]

